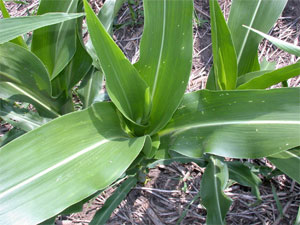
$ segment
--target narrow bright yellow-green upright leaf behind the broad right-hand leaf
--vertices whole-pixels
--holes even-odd
[[[230,31],[217,0],[210,0],[211,36],[214,76],[218,89],[236,87],[237,58]]]

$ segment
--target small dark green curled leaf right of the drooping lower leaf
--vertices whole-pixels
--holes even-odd
[[[235,180],[241,185],[251,187],[252,193],[261,200],[259,193],[259,185],[262,183],[259,177],[251,171],[251,169],[242,162],[229,161],[226,162],[229,170],[229,178]]]

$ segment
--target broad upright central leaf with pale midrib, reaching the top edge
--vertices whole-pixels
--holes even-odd
[[[149,132],[165,126],[178,107],[192,62],[193,1],[144,1],[140,60],[135,64],[150,87]]]

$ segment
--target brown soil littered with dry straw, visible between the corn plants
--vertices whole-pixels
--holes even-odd
[[[34,12],[38,1],[27,0],[28,5],[7,3],[10,13],[24,16]],[[142,3],[133,5],[136,19],[133,19],[128,4],[119,12],[116,24],[122,25],[114,32],[114,38],[126,56],[132,61],[139,57],[139,42],[143,31]],[[220,0],[225,15],[228,15],[231,0]],[[93,0],[95,11],[99,11],[102,0]],[[207,76],[212,64],[211,32],[209,25],[208,0],[195,0],[198,24],[194,23],[193,68],[187,92],[205,88]],[[272,28],[271,35],[299,45],[300,36],[300,0],[289,0],[283,14]],[[260,45],[259,59],[276,62],[277,68],[299,60],[268,41]],[[288,81],[289,86],[300,86],[300,76]],[[277,87],[280,85],[276,85]],[[250,161],[250,160],[248,160]],[[274,168],[266,159],[251,160],[256,165]],[[138,184],[111,215],[107,224],[205,224],[206,211],[196,197],[200,190],[200,180],[204,172],[196,163],[173,163],[150,169],[147,182]],[[233,199],[233,204],[226,216],[227,224],[293,224],[300,204],[300,185],[285,175],[271,179],[262,177],[260,187],[262,202],[255,205],[256,198],[250,188],[233,184],[226,189],[226,194]],[[276,203],[272,185],[276,189],[280,205]],[[93,215],[113,192],[105,190],[101,195],[86,203],[79,213],[61,215],[56,224],[89,224]],[[283,217],[279,208],[282,207]]]

